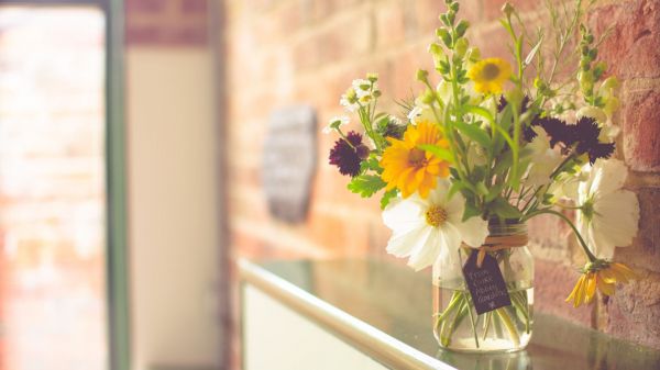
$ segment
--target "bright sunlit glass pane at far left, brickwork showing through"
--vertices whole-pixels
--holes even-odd
[[[0,7],[0,369],[106,368],[103,15]]]

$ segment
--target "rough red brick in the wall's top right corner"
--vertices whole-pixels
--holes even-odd
[[[597,8],[590,14],[595,34],[610,30],[600,58],[623,78],[660,76],[660,2],[636,0]]]

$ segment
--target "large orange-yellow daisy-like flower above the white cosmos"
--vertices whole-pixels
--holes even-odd
[[[394,137],[387,141],[392,145],[381,159],[381,177],[387,182],[387,190],[398,188],[404,198],[419,191],[421,198],[427,198],[429,191],[436,188],[437,178],[449,176],[449,162],[417,147],[421,144],[449,146],[438,125],[421,121],[416,126],[408,126],[403,141]]]

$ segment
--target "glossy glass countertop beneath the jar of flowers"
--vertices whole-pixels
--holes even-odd
[[[240,268],[243,279],[249,283],[260,280],[257,288],[271,284],[271,293],[277,293],[277,289],[287,290],[290,294],[284,303],[289,303],[294,310],[297,299],[312,300],[320,302],[322,307],[332,309],[327,310],[331,314],[324,316],[321,325],[329,323],[333,326],[333,315],[344,317],[348,314],[351,321],[344,319],[344,325],[362,327],[361,323],[367,324],[367,327],[376,329],[369,333],[382,332],[396,339],[393,340],[395,347],[398,343],[400,347],[407,348],[407,352],[410,352],[411,347],[421,357],[433,359],[427,360],[421,368],[449,368],[449,365],[461,370],[660,369],[659,350],[612,338],[541,313],[535,313],[534,335],[526,350],[504,355],[468,355],[441,350],[431,329],[430,276],[416,273],[385,259],[242,260]],[[316,316],[314,310],[317,309],[300,313]],[[330,332],[333,332],[332,328]],[[342,337],[341,333],[336,334]],[[371,334],[366,337],[369,335]],[[360,338],[348,341],[360,348],[370,346],[359,343],[363,340]],[[380,358],[378,348],[371,348],[370,356],[392,367],[386,358]]]

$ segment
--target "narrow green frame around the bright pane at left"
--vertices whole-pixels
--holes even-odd
[[[106,298],[108,369],[131,368],[124,123],[124,0],[6,0],[2,5],[90,5],[106,19]]]

